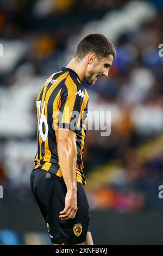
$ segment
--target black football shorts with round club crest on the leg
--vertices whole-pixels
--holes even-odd
[[[52,243],[75,245],[85,242],[89,231],[90,212],[83,185],[77,182],[76,217],[72,220],[61,220],[59,212],[65,208],[67,192],[64,179],[46,170],[36,169],[30,175],[30,184],[47,223]]]

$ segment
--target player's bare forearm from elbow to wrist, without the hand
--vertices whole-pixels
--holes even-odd
[[[67,191],[77,191],[76,164],[77,147],[71,138],[58,142],[59,166],[64,178]]]

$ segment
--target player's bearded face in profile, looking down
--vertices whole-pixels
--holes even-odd
[[[86,75],[85,75],[85,82],[92,86],[96,81],[97,78],[102,76],[108,76],[109,74],[109,67],[112,65],[113,56],[110,54],[108,57],[104,57],[102,59],[95,58],[95,62],[92,65],[88,65]]]

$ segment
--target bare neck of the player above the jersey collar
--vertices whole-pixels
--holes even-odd
[[[79,76],[80,81],[84,79],[86,68],[83,60],[81,62],[78,62],[75,58],[73,58],[71,62],[68,63],[66,68],[74,70]]]

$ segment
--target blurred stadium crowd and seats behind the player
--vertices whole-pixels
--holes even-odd
[[[35,100],[90,33],[103,33],[117,50],[109,77],[84,84],[89,110],[111,111],[111,135],[86,136],[93,238],[97,245],[163,244],[162,0],[1,0],[1,244],[51,243],[29,186]]]

